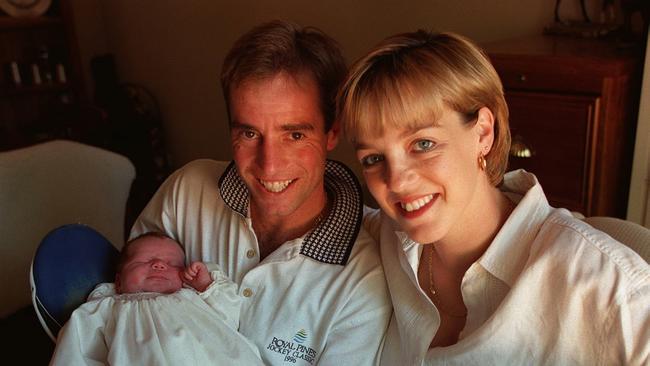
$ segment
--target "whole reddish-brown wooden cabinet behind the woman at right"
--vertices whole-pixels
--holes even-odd
[[[534,173],[554,206],[623,218],[641,47],[539,36],[484,49],[510,109],[508,169]]]

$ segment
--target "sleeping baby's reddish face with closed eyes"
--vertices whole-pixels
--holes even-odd
[[[183,284],[180,271],[185,268],[181,247],[166,238],[144,237],[128,247],[128,259],[115,277],[118,293],[173,293]]]

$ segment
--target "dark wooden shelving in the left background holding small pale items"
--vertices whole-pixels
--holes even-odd
[[[71,17],[68,0],[36,18],[0,13],[0,150],[66,137],[83,95]]]

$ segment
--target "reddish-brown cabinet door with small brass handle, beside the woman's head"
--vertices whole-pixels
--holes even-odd
[[[513,138],[508,170],[534,173],[553,206],[589,214],[598,98],[509,92],[506,99]]]

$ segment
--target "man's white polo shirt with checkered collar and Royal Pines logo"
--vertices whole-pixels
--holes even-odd
[[[328,161],[325,186],[328,216],[261,263],[248,190],[233,163],[197,160],[173,173],[131,237],[162,231],[185,246],[188,262],[217,263],[240,286],[239,331],[266,364],[373,365],[392,311],[378,247],[361,229],[354,174]]]

